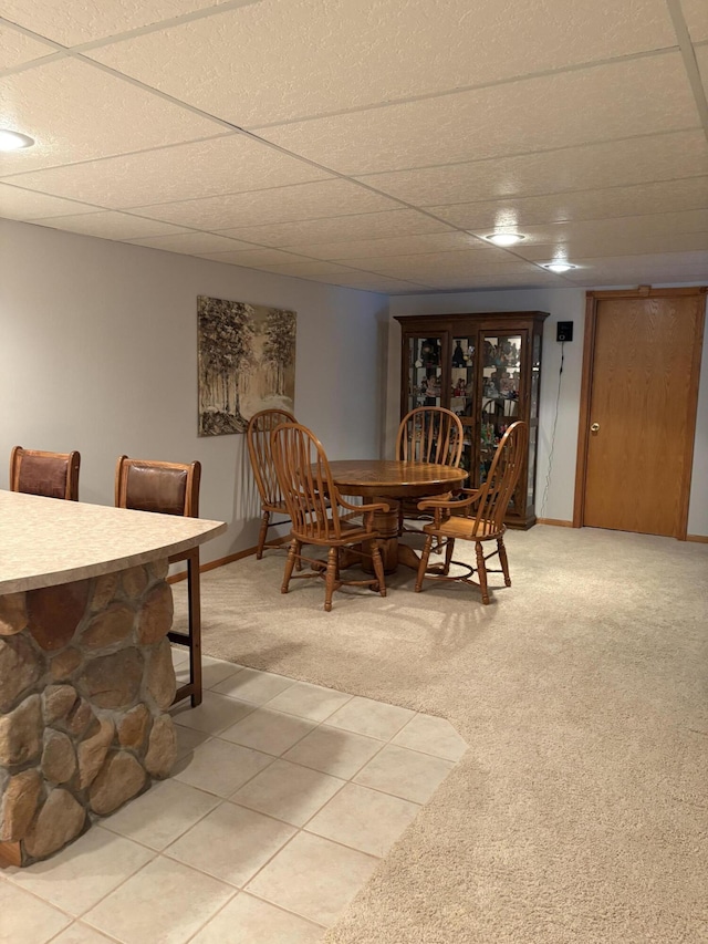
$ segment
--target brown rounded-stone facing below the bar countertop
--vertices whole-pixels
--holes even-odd
[[[166,574],[162,560],[0,595],[0,860],[45,859],[169,774]]]

